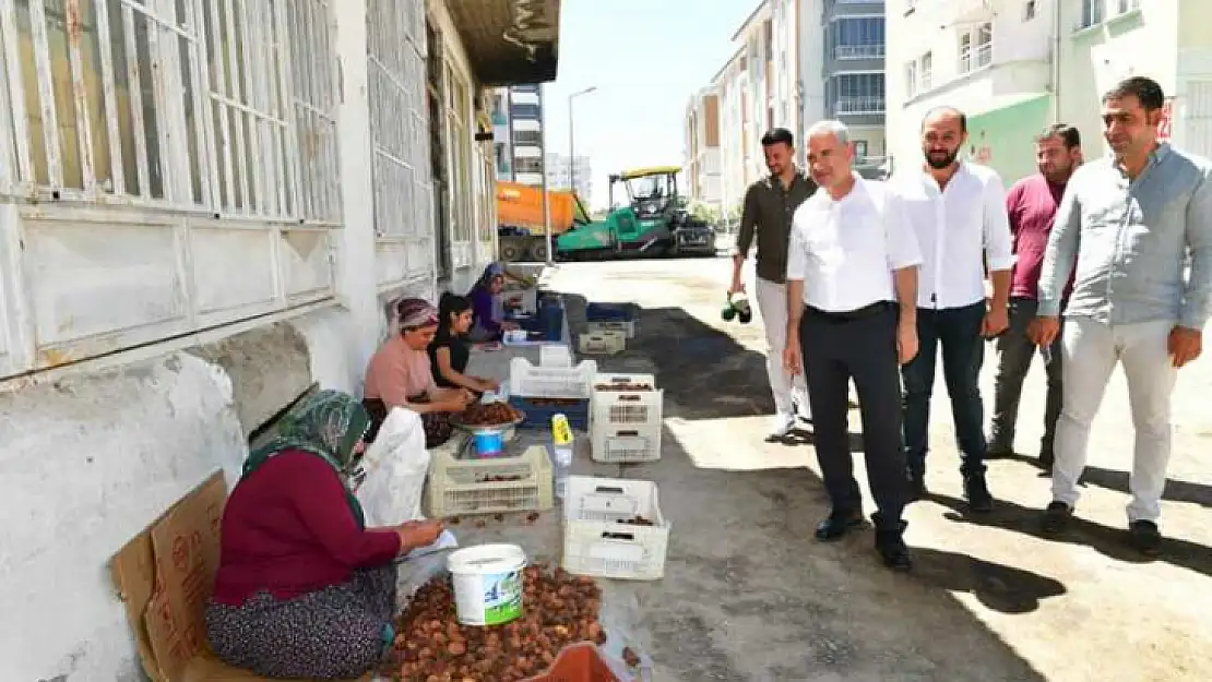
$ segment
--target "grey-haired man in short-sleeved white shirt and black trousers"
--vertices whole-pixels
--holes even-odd
[[[807,379],[817,459],[833,506],[817,526],[817,539],[836,540],[863,525],[847,424],[853,379],[876,505],[875,549],[890,568],[909,571],[913,560],[901,518],[909,489],[897,367],[917,353],[921,256],[886,185],[854,173],[848,138],[837,121],[808,128],[808,168],[821,191],[796,210],[791,223],[783,355],[788,371]]]

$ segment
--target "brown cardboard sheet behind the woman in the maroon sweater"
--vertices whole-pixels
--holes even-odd
[[[218,660],[206,643],[205,612],[215,589],[227,493],[223,472],[216,471],[110,562],[153,682],[269,682]]]

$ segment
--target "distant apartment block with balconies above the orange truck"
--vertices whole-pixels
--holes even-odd
[[[543,91],[538,85],[499,88],[493,98],[497,179],[543,184]]]

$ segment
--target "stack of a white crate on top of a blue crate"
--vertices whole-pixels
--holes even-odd
[[[545,429],[551,417],[564,413],[573,429],[589,428],[589,401],[598,363],[576,367],[536,367],[525,357],[509,362],[509,405],[526,414],[522,426]]]

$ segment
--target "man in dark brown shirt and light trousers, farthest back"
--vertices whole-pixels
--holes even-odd
[[[758,237],[755,292],[758,311],[766,328],[766,374],[774,396],[774,419],[770,428],[772,439],[781,439],[795,428],[795,413],[806,411],[807,390],[783,368],[783,348],[787,344],[787,239],[791,216],[817,190],[816,183],[796,170],[793,159],[795,138],[785,128],[774,128],[761,138],[762,153],[770,177],[749,187],[745,193],[737,252],[732,257],[732,287],[728,293],[744,291],[742,267],[749,247]],[[793,390],[794,389],[794,390]],[[796,405],[795,397],[799,397]]]

